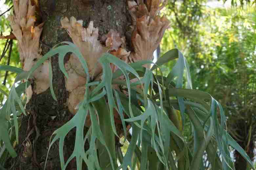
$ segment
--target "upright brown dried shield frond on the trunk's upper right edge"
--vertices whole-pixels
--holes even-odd
[[[146,4],[139,5],[136,5],[135,1],[128,1],[130,13],[133,18],[136,17],[131,37],[135,52],[130,56],[134,62],[153,59],[153,52],[170,23],[165,16],[158,15],[164,4],[165,0],[148,0]]]

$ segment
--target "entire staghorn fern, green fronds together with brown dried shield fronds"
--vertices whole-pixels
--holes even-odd
[[[17,114],[20,111],[17,111],[15,103],[19,104],[20,110],[25,114],[20,95],[33,80],[39,81],[40,74],[37,72],[44,67],[42,64],[47,65],[46,73],[49,74],[43,81],[48,84],[56,100],[53,93],[52,67],[48,59],[58,54],[59,67],[66,76],[65,85],[70,93],[68,107],[74,114],[70,121],[53,132],[50,142],[49,150],[58,141],[62,169],[66,169],[72,159],[76,160],[78,170],[83,168],[83,162],[90,170],[128,167],[141,170],[204,169],[202,156],[206,151],[212,169],[227,170],[234,168],[229,145],[238,150],[252,166],[243,149],[226,132],[226,120],[221,105],[208,93],[192,89],[188,63],[181,52],[173,49],[155,64],[151,61],[153,51],[169,25],[165,17],[159,16],[164,3],[160,0],[149,0],[138,5],[135,1],[128,1],[133,17],[131,41],[134,52],[127,52],[125,39],[116,31],[110,30],[103,36],[101,44],[98,41],[98,29],[93,26],[93,22],[84,28],[81,20],[71,17],[70,20],[63,18],[61,24],[67,29],[74,44],[58,44],[43,57],[39,57],[38,61],[32,59],[32,64],[28,62],[28,67],[25,67],[25,58],[28,56],[24,55],[23,70],[0,66],[0,70],[19,73],[15,82],[25,80],[18,87],[15,84],[11,87],[8,99],[0,110],[0,143],[4,144],[0,153],[6,148],[11,156],[16,156],[8,135],[14,124],[16,140],[18,139]],[[12,26],[17,32],[26,30],[14,29],[23,28],[24,23],[34,28],[29,24],[32,18],[29,12],[31,4],[28,1],[26,5],[21,4],[14,1],[16,19],[13,19]],[[19,9],[25,9],[25,6],[28,10],[19,14]],[[28,19],[23,19],[24,17]],[[18,24],[20,21],[21,24]],[[27,34],[24,32],[21,35],[25,37]],[[30,36],[24,39],[33,40],[33,31],[28,35]],[[16,34],[21,51],[23,38],[18,36]],[[72,55],[64,64],[64,57],[69,52]],[[38,48],[28,53],[38,56]],[[155,74],[155,69],[160,70],[162,64],[174,59],[178,61],[168,75]],[[154,64],[151,69],[150,64]],[[184,70],[187,75],[187,88],[182,88]],[[31,90],[37,93],[34,89]],[[187,147],[182,136],[185,116],[191,121],[194,132],[193,151]],[[85,134],[84,126],[89,127]],[[127,135],[130,133],[127,131],[129,127],[132,128],[131,138]],[[64,161],[64,139],[74,128],[75,147],[67,161]],[[124,136],[129,141],[125,155],[119,146],[116,147],[116,136]],[[85,149],[85,143],[90,144],[89,149]]]

